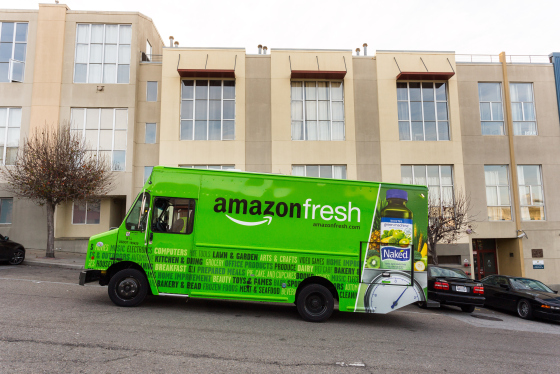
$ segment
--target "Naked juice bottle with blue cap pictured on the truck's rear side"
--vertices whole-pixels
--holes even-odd
[[[387,190],[387,206],[381,210],[381,268],[410,271],[412,265],[412,212],[408,194]]]

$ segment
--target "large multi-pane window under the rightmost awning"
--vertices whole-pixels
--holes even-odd
[[[397,82],[397,106],[400,140],[449,140],[446,83]]]

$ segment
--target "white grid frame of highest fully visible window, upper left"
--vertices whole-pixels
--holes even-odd
[[[88,42],[87,42],[87,46],[88,46],[88,53],[87,53],[87,62],[85,63],[86,65],[86,79],[85,82],[76,82],[76,64],[80,64],[80,65],[84,65],[84,63],[77,63],[76,60],[78,58],[78,44],[82,44],[82,45],[86,45],[85,43],[79,43],[78,42],[78,28],[80,25],[88,25]],[[101,52],[101,81],[100,82],[90,82],[89,81],[89,69],[90,69],[90,55],[91,55],[91,30],[92,30],[92,26],[93,25],[103,25],[103,36],[102,36],[102,43],[93,43],[93,44],[101,44],[102,48],[102,52]],[[115,65],[115,81],[114,82],[104,82],[104,76],[105,76],[105,65],[113,65],[112,63],[106,63],[105,62],[105,45],[106,44],[110,44],[113,45],[112,43],[106,43],[105,41],[105,34],[106,34],[106,29],[107,26],[117,26],[117,43],[114,44],[116,45],[116,62],[114,63]],[[130,27],[130,43],[129,44],[125,44],[122,43],[121,44],[121,26],[129,26]],[[132,24],[131,23],[84,23],[84,22],[76,22],[76,40],[74,42],[74,71],[73,71],[73,77],[72,77],[72,83],[74,84],[130,84],[130,67],[132,65]],[[129,56],[129,63],[128,64],[121,64],[119,62],[119,47],[121,45],[128,45],[130,47],[130,56]],[[96,63],[94,63],[96,64]],[[121,82],[119,83],[119,66],[124,66],[124,65],[128,65],[128,77],[127,77],[127,81],[126,82]]]

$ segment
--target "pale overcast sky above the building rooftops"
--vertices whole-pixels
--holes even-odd
[[[44,1],[52,2],[54,1]],[[560,52],[560,0],[61,0],[72,10],[138,11],[183,47]],[[38,9],[37,0],[0,0]]]

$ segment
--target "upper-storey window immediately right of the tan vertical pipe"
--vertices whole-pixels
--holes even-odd
[[[510,83],[513,135],[537,135],[532,83]]]

